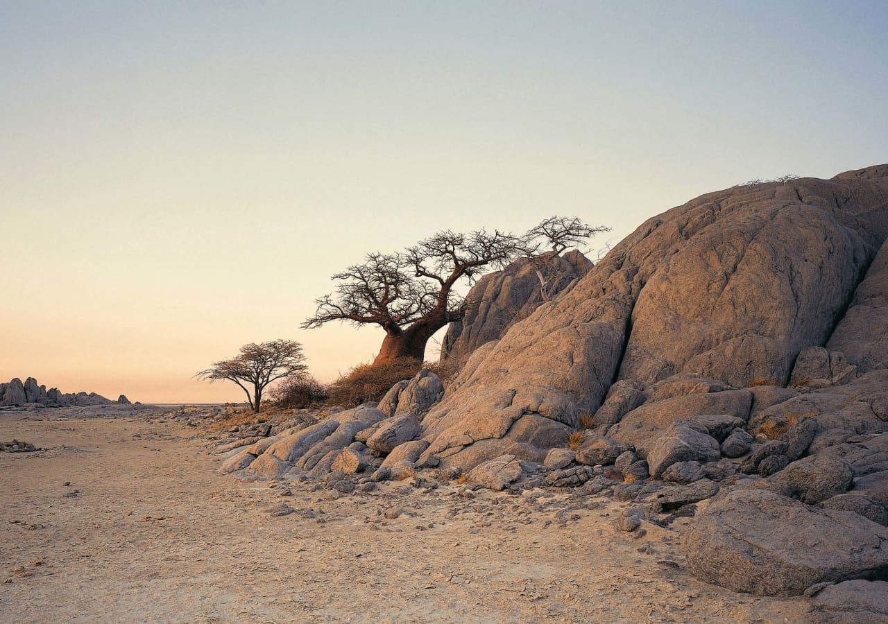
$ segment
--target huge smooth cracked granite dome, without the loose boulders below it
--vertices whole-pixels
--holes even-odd
[[[465,464],[459,455],[481,440],[508,438],[501,451],[512,453],[524,442],[512,427],[528,415],[576,427],[618,380],[785,384],[801,351],[827,344],[886,236],[888,165],[689,201],[474,351],[423,437],[442,461]]]

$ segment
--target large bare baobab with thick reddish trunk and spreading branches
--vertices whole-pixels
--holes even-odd
[[[334,295],[316,300],[317,312],[303,328],[331,320],[385,329],[374,365],[399,358],[422,359],[429,338],[461,320],[470,305],[454,292],[487,268],[502,268],[527,249],[527,241],[498,230],[439,232],[396,254],[369,254],[361,265],[333,276]]]

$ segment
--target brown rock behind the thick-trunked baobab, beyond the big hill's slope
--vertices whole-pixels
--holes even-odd
[[[549,298],[559,295],[592,268],[591,261],[575,249],[564,256],[550,251],[539,260]],[[462,365],[482,344],[499,340],[512,325],[545,303],[542,287],[527,258],[519,258],[502,271],[482,277],[466,297],[478,304],[463,320],[448,327],[441,345],[441,362]]]

